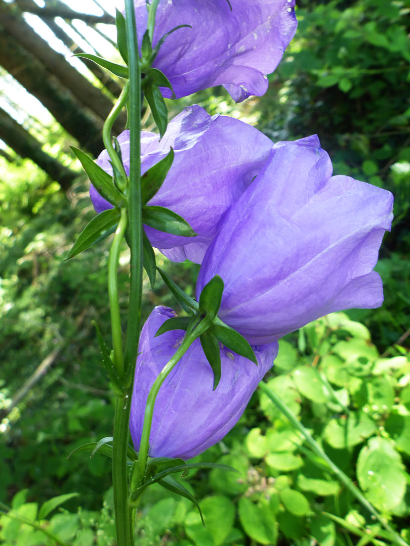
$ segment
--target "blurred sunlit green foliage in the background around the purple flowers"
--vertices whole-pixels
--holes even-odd
[[[410,7],[399,0],[304,0],[297,11],[297,37],[265,97],[235,105],[217,88],[192,103],[241,117],[273,140],[318,133],[335,173],[395,194],[394,227],[377,265],[383,307],[333,314],[286,336],[266,381],[409,542]],[[174,115],[182,102],[169,107]],[[53,145],[64,149],[67,137],[57,133]],[[107,246],[62,262],[94,215],[82,175],[65,194],[27,159],[10,164],[0,157],[0,168],[0,498],[15,516],[37,520],[69,544],[114,544],[109,459],[67,459],[80,444],[111,434],[113,396],[90,325],[96,319],[108,341]],[[127,262],[124,247],[124,291]],[[165,258],[160,265],[193,289],[196,268]],[[155,290],[145,282],[145,317],[158,304],[175,307],[160,280]],[[122,305],[125,316],[125,297]],[[11,407],[36,370],[38,381]],[[206,529],[189,501],[154,486],[137,514],[139,544],[390,543],[264,394],[253,396],[230,434],[200,459],[239,472],[183,478],[200,500]],[[55,544],[6,515],[0,541]]]

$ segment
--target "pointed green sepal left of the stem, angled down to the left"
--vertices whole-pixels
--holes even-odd
[[[64,262],[114,233],[120,221],[120,216],[119,209],[108,209],[92,218],[91,222],[85,226],[78,236],[77,241],[75,241],[73,247],[64,258]]]

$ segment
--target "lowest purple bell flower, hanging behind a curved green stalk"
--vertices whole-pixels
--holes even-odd
[[[182,330],[154,337],[160,326],[176,313],[155,307],[144,324],[139,340],[130,430],[139,450],[145,404],[151,385],[184,337]],[[196,340],[169,373],[154,407],[150,434],[153,457],[190,459],[219,442],[241,417],[250,397],[278,353],[278,344],[254,347],[259,366],[221,349],[221,380],[213,391],[213,372]]]

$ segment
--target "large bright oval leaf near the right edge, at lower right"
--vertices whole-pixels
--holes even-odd
[[[361,489],[372,505],[391,512],[406,491],[406,474],[401,456],[386,438],[370,438],[361,449],[356,468]]]

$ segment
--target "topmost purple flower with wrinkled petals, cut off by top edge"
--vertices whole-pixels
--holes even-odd
[[[230,8],[230,4],[232,10]],[[134,0],[139,46],[147,29],[145,0]],[[223,84],[236,102],[263,95],[296,32],[295,0],[162,0],[153,46],[169,31],[153,67],[177,98]],[[163,90],[171,97],[169,89]]]

